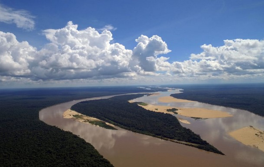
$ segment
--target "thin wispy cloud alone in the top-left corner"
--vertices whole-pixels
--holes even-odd
[[[28,11],[15,10],[0,4],[0,22],[15,23],[18,28],[32,30],[35,26],[34,18]]]

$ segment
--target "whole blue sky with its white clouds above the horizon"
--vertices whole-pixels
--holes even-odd
[[[263,0],[0,0],[0,88],[264,82]]]

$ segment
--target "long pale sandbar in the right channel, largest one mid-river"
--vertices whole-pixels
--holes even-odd
[[[141,105],[139,105],[141,106]],[[172,112],[168,112],[167,109],[177,108],[176,111],[179,115],[185,117],[195,117],[195,118],[224,118],[224,117],[232,117],[233,115],[228,114],[225,111],[218,111],[218,110],[209,110],[205,108],[179,108],[176,106],[160,106],[160,105],[153,105],[148,104],[146,106],[141,106],[147,110],[162,112],[173,114]]]

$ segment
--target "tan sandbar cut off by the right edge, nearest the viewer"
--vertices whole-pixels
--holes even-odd
[[[229,132],[228,134],[244,145],[256,147],[264,152],[264,131],[248,126]]]

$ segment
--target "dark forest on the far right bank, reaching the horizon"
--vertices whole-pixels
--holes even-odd
[[[178,86],[184,93],[172,97],[238,108],[264,116],[264,84]]]

